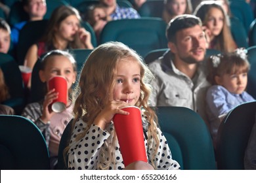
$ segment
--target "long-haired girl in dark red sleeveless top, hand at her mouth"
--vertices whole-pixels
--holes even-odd
[[[51,50],[93,49],[91,34],[80,27],[80,21],[79,12],[74,7],[62,5],[54,9],[45,35],[39,42],[30,46],[24,65],[33,69],[37,59]],[[30,84],[28,87],[30,88]]]

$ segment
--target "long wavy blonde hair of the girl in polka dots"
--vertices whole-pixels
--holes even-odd
[[[140,65],[140,97],[135,106],[143,109],[144,116],[148,118],[148,146],[152,146],[153,142],[156,144],[154,156],[150,158],[151,162],[156,156],[156,152],[159,147],[159,137],[156,127],[158,125],[158,118],[156,112],[148,106],[148,98],[150,96],[151,86],[150,81],[154,77],[148,67],[144,64],[144,61],[140,56],[128,46],[121,42],[106,42],[101,44],[91,54],[85,62],[81,75],[79,76],[79,83],[74,93],[74,123],[72,129],[74,129],[75,123],[82,119],[87,124],[86,129],[77,135],[76,141],[85,137],[89,127],[93,124],[96,116],[100,111],[109,103],[110,96],[113,95],[115,86],[115,76],[117,70],[117,64],[125,59],[133,59]],[[129,68],[127,68],[129,69]],[[104,98],[99,98],[99,93],[105,93]],[[72,130],[73,131],[73,130]],[[104,146],[108,147],[108,150],[102,148],[102,154],[108,154],[110,157],[108,160],[100,159],[104,162],[104,167],[98,164],[98,169],[108,169],[110,163],[115,163],[115,151],[116,151],[116,132],[112,131],[113,139],[108,139],[104,142]],[[65,152],[69,150],[69,146]],[[113,155],[112,155],[113,154]],[[99,162],[100,162],[99,161]],[[154,165],[153,165],[154,166]]]

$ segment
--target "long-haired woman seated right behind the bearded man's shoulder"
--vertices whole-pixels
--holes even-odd
[[[230,31],[230,20],[219,1],[202,1],[194,15],[198,16],[204,25],[208,48],[220,52],[234,52],[237,48]]]

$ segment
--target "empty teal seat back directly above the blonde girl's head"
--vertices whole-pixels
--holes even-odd
[[[102,30],[100,44],[123,42],[144,57],[151,50],[167,48],[166,27],[161,18],[155,17],[110,21]]]

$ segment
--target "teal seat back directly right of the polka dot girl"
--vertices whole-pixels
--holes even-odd
[[[185,107],[157,107],[156,112],[172,157],[181,169],[216,169],[209,129],[196,112]]]

